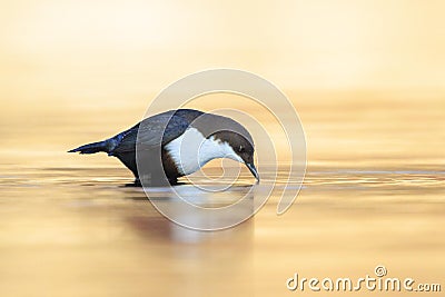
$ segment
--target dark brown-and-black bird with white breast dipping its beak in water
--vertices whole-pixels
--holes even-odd
[[[116,157],[132,172],[137,186],[146,179],[144,186],[156,186],[162,175],[169,185],[178,185],[178,178],[217,158],[245,164],[259,182],[254,140],[247,129],[231,118],[195,109],[168,110],[148,117],[111,138],[68,152],[106,152]]]

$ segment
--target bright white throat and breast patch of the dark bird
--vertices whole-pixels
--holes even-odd
[[[212,136],[207,139],[196,128],[188,128],[165,149],[181,175],[190,175],[216,158],[230,158],[244,162],[229,143],[215,139]]]

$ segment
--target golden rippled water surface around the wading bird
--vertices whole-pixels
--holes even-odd
[[[380,108],[373,117],[362,107],[355,116],[336,116],[342,106],[333,108],[300,110],[308,169],[294,206],[276,215],[286,186],[283,166],[260,211],[217,232],[164,218],[140,188],[126,187],[131,175],[116,159],[66,154],[130,126],[129,116],[10,118],[0,129],[2,295],[285,296],[291,294],[285,281],[295,273],[358,278],[373,275],[378,264],[388,276],[445,285],[444,129],[437,108],[423,110],[422,121],[404,120],[417,106]],[[217,178],[220,170],[207,174]],[[255,185],[244,170],[224,194],[191,185],[177,189],[207,206],[230,204],[250,189],[255,200],[271,182],[270,168],[260,174]],[[196,180],[207,187],[226,181]],[[151,194],[175,202],[169,189]]]

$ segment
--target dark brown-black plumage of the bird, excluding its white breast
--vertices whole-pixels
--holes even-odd
[[[233,146],[258,179],[253,160],[254,142],[249,132],[230,118],[194,109],[178,109],[155,115],[109,139],[85,145],[69,152],[96,154],[103,151],[108,156],[117,157],[135,175],[137,184],[140,182],[140,175],[151,179],[151,184],[161,184],[162,181],[155,181],[155,177],[164,176],[157,170],[164,171],[168,182],[176,184],[177,178],[182,174],[178,170],[169,151],[166,150],[166,146],[185,133],[189,127],[196,128],[205,138],[214,136]],[[238,151],[239,148],[243,150]],[[144,157],[139,159],[144,160],[140,170],[138,170],[137,154],[144,154]]]

